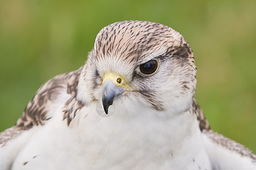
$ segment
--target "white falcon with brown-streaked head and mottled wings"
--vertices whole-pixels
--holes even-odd
[[[195,100],[194,54],[159,23],[96,36],[85,65],[43,84],[0,134],[0,169],[256,169]]]

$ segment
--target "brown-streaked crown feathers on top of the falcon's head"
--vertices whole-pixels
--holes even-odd
[[[177,40],[176,36],[180,37],[180,40]],[[117,22],[104,27],[98,33],[95,41],[96,59],[112,54],[113,57],[119,56],[123,61],[137,62],[146,54],[157,51],[168,43],[173,44],[172,49],[179,45],[182,47],[183,40],[180,33],[159,23],[137,20]],[[189,52],[191,53],[191,50]]]

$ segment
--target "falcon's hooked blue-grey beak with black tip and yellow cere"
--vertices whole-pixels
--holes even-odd
[[[122,76],[115,73],[105,74],[102,84],[102,103],[105,113],[108,114],[108,107],[127,91],[129,85]]]

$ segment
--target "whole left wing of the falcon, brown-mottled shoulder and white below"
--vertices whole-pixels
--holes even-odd
[[[68,103],[69,98],[75,99],[82,67],[57,75],[44,83],[28,103],[16,125],[0,133],[0,169],[11,169],[19,151],[36,133],[36,127],[43,126],[51,119],[59,105]]]

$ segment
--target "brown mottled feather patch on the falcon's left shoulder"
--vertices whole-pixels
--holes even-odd
[[[60,74],[44,83],[36,95],[28,103],[22,116],[16,123],[15,129],[28,130],[32,126],[44,125],[51,118],[48,115],[51,106],[61,92],[69,95],[77,94],[77,83],[82,67],[70,73]]]

